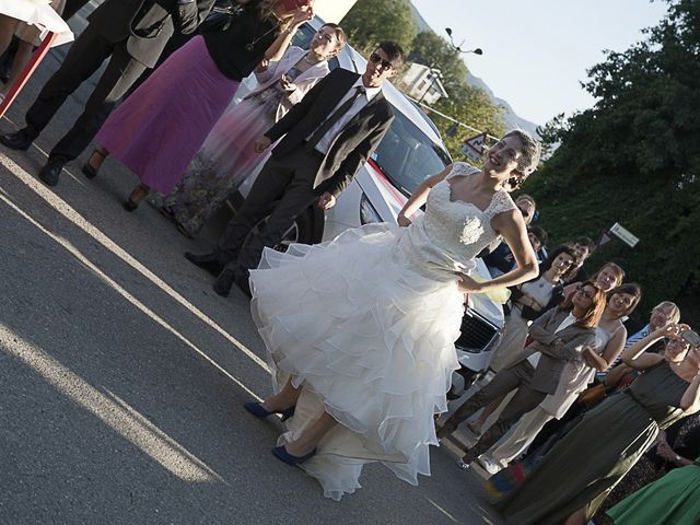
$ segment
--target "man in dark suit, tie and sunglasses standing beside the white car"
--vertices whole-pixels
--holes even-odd
[[[247,291],[248,270],[262,249],[280,243],[294,220],[311,205],[330,209],[384,138],[394,112],[382,84],[404,59],[398,44],[384,42],[370,56],[364,74],[335,69],[272,126],[256,143],[275,147],[241,210],[213,253],[185,256],[219,275],[214,291],[228,295],[233,282]],[[265,226],[253,228],[269,215]],[[222,271],[223,270],[223,271]]]

